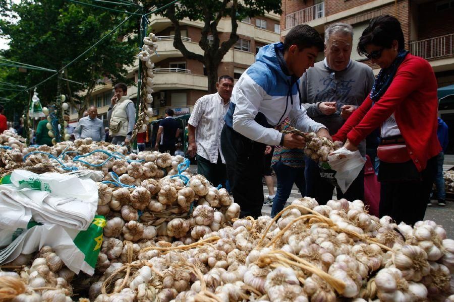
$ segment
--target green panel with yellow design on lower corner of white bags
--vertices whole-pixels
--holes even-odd
[[[93,222],[86,231],[81,231],[74,238],[74,244],[76,247],[85,254],[85,262],[91,267],[96,266],[98,261],[99,250],[101,249],[103,240],[103,229],[105,226],[105,217],[101,215],[95,215]]]

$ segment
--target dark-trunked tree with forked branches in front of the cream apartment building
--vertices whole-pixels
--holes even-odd
[[[145,0],[141,3],[145,6],[161,7],[168,2],[168,0]],[[174,47],[180,50],[185,58],[198,60],[205,65],[208,75],[208,91],[214,93],[217,68],[224,55],[239,39],[238,22],[246,17],[264,15],[266,12],[280,14],[280,5],[281,2],[275,0],[181,0],[177,5],[168,7],[160,14],[170,19],[175,27]],[[203,54],[189,51],[184,45],[179,23],[184,18],[204,23],[199,42]],[[232,31],[228,40],[221,41],[218,36],[217,26],[221,18],[231,19]],[[213,43],[208,41],[209,34],[213,35]]]

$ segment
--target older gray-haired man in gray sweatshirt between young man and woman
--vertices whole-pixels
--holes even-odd
[[[343,23],[330,25],[325,31],[326,57],[309,68],[300,81],[307,115],[325,125],[331,134],[336,133],[362,104],[375,80],[368,65],[350,59],[352,47],[352,26]],[[359,149],[365,156],[365,141]],[[315,198],[319,204],[326,204],[332,198],[334,186],[320,177],[318,164],[310,158],[306,160],[305,178],[307,196]],[[364,199],[363,172],[345,194],[337,190],[337,198],[342,197]]]

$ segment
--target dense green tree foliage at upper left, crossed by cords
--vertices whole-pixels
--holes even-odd
[[[54,70],[70,63],[129,16],[64,0],[23,0],[17,4],[10,1],[0,0],[0,16],[3,17],[0,36],[11,39],[10,48],[2,50],[0,56]],[[126,66],[134,63],[139,51],[137,38],[129,34],[138,18],[132,17],[61,73],[63,78],[83,84],[60,81],[60,92],[69,96],[70,103],[78,108],[79,117],[87,109],[90,94],[97,85],[105,84],[107,79],[128,82]],[[54,72],[2,67],[0,81],[32,87],[52,74]],[[37,87],[44,106],[55,101],[57,87],[56,75]],[[2,96],[16,94],[2,91]],[[22,93],[11,105],[25,106],[28,98],[28,93]]]

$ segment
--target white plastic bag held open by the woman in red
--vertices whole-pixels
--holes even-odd
[[[358,177],[366,161],[358,150],[352,152],[342,147],[335,150],[332,155],[328,155],[328,163],[331,169],[336,171],[334,177],[337,185],[341,188],[342,193],[345,193]]]

